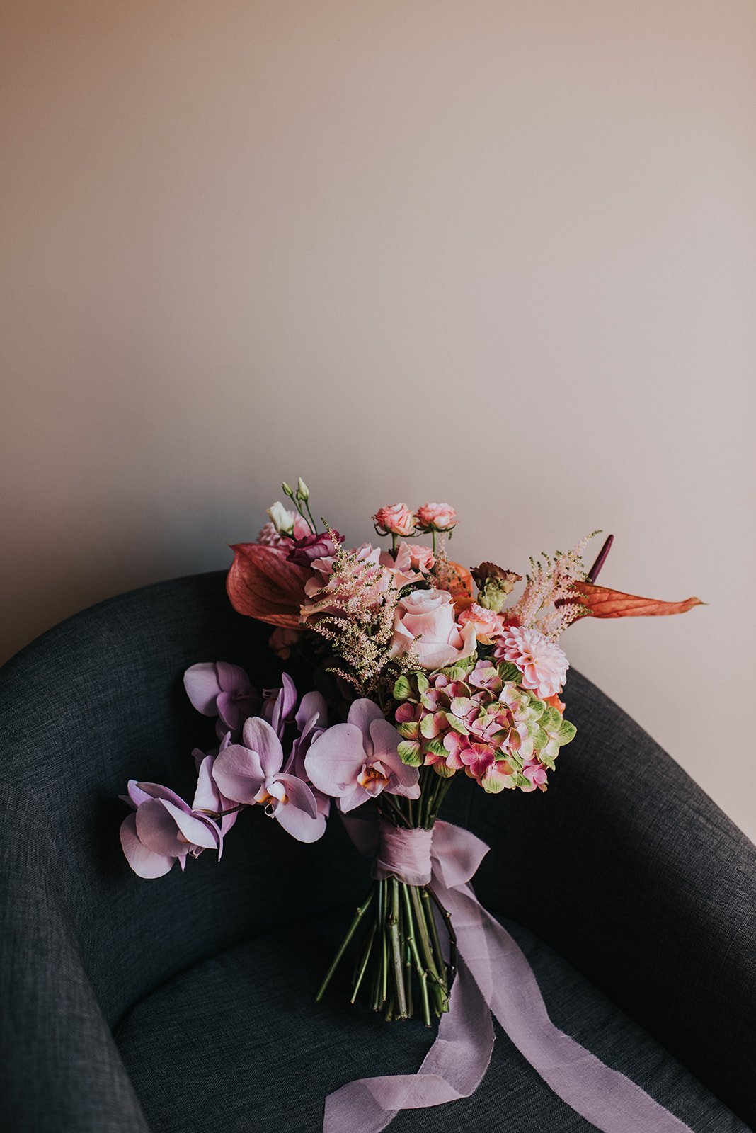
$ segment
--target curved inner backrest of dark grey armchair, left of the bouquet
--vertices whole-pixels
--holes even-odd
[[[269,630],[232,610],[224,579],[177,579],[101,603],[1,671],[2,842],[14,849],[14,887],[42,920],[67,925],[111,1024],[173,972],[337,906],[364,877],[358,855],[342,854],[338,824],[304,846],[258,815],[237,824],[220,863],[207,853],[183,875],[175,866],[149,881],[123,859],[118,830],[128,811],[118,795],[127,781],[165,783],[190,799],[191,750],[217,742],[213,722],[187,700],[184,668],[230,661],[260,687],[276,683]],[[57,908],[44,909],[51,900]]]

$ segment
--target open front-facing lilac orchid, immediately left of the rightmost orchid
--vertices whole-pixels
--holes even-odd
[[[269,818],[299,842],[317,842],[326,829],[318,800],[302,780],[284,766],[284,751],[276,731],[261,716],[247,721],[243,743],[231,743],[213,766],[218,790],[234,802],[260,803]]]

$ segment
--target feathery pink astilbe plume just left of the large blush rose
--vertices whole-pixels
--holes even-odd
[[[302,606],[308,629],[329,642],[344,666],[329,672],[369,697],[390,685],[403,672],[416,667],[416,657],[392,657],[394,613],[400,591],[392,572],[361,559],[358,551],[336,545],[332,573],[316,600]]]

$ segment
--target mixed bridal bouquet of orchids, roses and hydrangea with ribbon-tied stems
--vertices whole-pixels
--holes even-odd
[[[437,821],[444,798],[462,775],[491,794],[547,790],[576,731],[561,699],[568,661],[559,644],[573,622],[681,613],[698,599],[662,603],[596,586],[611,536],[589,570],[592,536],[531,560],[523,580],[493,562],[467,570],[449,557],[457,517],[447,503],[380,508],[372,522],[384,545],[350,546],[316,523],[302,479],[283,491],[293,506],[273,504],[256,542],[233,547],[227,593],[237,611],[274,627],[269,645],[284,664],[307,664],[309,687],[298,690],[284,671],[278,688],[258,690],[237,665],[192,665],[186,691],[216,718],[218,746],[194,752],[191,803],[129,782],[123,852],[136,874],[155,878],[205,850],[220,858],[244,809],[261,808],[301,842],[320,838],[337,816],[371,858],[373,880],[317,998],[349,952],[353,1003],[361,996],[388,1020],[416,1015],[427,1026],[443,1017],[446,1038],[475,1047],[480,1080],[490,1012],[510,1034],[517,1029],[512,1003],[497,1010],[506,973],[492,974],[480,957],[516,945],[474,898],[467,883],[487,847]],[[533,979],[525,968],[521,986]],[[540,1000],[534,979],[532,995]],[[466,1011],[455,1006],[463,997]],[[479,1011],[475,1034],[465,1036],[483,1000],[484,1017]],[[548,1051],[527,1057],[549,1081]],[[439,1058],[424,1075],[444,1083],[436,1092],[422,1068],[414,1093],[406,1083],[398,1094],[372,1090],[383,1124],[397,1108],[471,1092],[471,1082],[449,1084],[455,1071]]]

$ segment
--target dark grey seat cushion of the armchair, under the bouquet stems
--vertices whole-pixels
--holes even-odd
[[[346,971],[337,973],[320,1005],[313,1003],[349,920],[349,913],[329,914],[249,940],[180,973],[130,1011],[115,1038],[155,1133],[318,1133],[332,1090],[419,1067],[431,1033],[419,1021],[386,1023],[363,1006],[352,1007]],[[522,927],[504,923],[533,965],[558,1026],[695,1133],[747,1131],[560,956]],[[472,1098],[402,1111],[390,1128],[589,1133],[593,1126],[497,1030],[491,1065]]]

